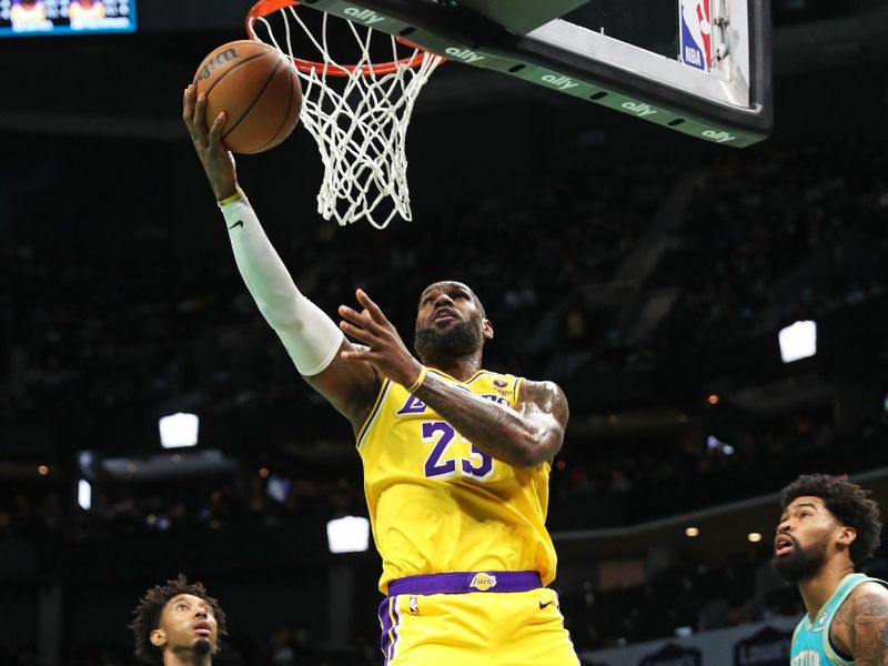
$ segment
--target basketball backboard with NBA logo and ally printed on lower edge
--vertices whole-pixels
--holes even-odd
[[[769,0],[301,3],[706,141],[771,128]]]

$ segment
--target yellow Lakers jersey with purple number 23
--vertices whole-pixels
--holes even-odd
[[[515,408],[521,377],[484,370],[456,384]],[[402,385],[385,380],[357,434],[380,589],[404,576],[537,571],[555,577],[545,527],[549,464],[513,467],[472,445]]]

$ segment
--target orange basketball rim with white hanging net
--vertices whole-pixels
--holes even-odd
[[[356,63],[342,64],[329,51],[331,14],[323,13],[315,36],[296,12],[299,4],[297,0],[260,0],[248,13],[246,32],[291,58],[300,72],[300,120],[314,137],[324,164],[317,212],[341,225],[366,218],[376,229],[384,229],[396,214],[411,220],[407,125],[420,90],[444,58],[401,37],[332,17],[347,24],[359,50]],[[269,20],[272,16],[274,27]],[[296,27],[321,60],[295,57],[292,33]],[[373,62],[370,48],[374,36],[391,40],[391,61]],[[400,58],[398,44],[401,51],[412,52]],[[389,53],[387,44],[384,48]],[[391,210],[380,208],[386,199],[391,199]]]

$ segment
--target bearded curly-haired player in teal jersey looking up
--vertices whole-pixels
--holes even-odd
[[[847,476],[810,474],[784,488],[774,565],[807,614],[791,666],[888,666],[888,583],[855,573],[879,546],[879,506]]]

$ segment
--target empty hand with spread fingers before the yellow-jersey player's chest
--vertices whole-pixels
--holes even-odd
[[[342,352],[342,357],[346,361],[366,361],[393,382],[403,386],[413,385],[422,365],[407,351],[401,335],[364,290],[359,289],[355,294],[364,310],[357,312],[347,305],[340,305],[340,316],[343,319],[340,329],[367,349]]]

